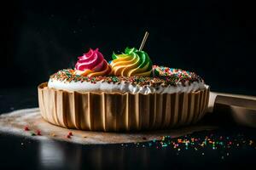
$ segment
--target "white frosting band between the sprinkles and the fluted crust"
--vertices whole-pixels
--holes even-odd
[[[55,88],[55,89],[61,89],[61,90],[67,90],[67,91],[76,91],[76,92],[119,92],[119,93],[131,93],[131,94],[174,94],[174,93],[190,93],[192,91],[205,89],[208,86],[204,82],[192,82],[185,83],[185,86],[183,86],[180,82],[177,84],[177,86],[169,85],[167,87],[158,87],[154,88],[151,86],[145,86],[141,87],[138,85],[133,85],[130,82],[120,82],[113,83],[113,82],[64,82],[60,80],[55,79],[49,79],[48,82],[49,88]]]

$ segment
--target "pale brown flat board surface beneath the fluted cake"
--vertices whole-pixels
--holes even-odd
[[[24,127],[29,127],[29,131],[25,131]],[[18,135],[23,137],[22,141],[24,139],[24,144],[30,143],[29,140],[26,140],[28,138],[39,140],[44,144],[47,144],[47,142],[55,143],[55,140],[66,141],[73,144],[137,144],[139,142],[161,140],[164,136],[169,136],[174,139],[191,133],[210,131],[216,128],[218,127],[208,126],[207,123],[199,123],[194,126],[170,130],[157,130],[139,133],[106,133],[77,129],[71,130],[55,126],[44,121],[39,108],[22,109],[0,115],[1,138],[4,138],[3,133],[6,135]],[[41,135],[32,135],[32,133],[36,134],[38,130],[40,130]],[[70,132],[73,133],[73,136],[67,138],[67,134]]]

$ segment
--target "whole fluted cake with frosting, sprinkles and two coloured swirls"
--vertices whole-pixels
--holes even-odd
[[[90,49],[75,69],[38,86],[44,119],[68,128],[131,131],[197,122],[209,89],[194,72],[152,65],[148,54],[126,48],[108,62]]]

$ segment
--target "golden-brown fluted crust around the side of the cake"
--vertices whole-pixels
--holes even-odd
[[[61,127],[120,132],[189,125],[204,116],[209,88],[180,94],[78,93],[38,86],[41,115]]]

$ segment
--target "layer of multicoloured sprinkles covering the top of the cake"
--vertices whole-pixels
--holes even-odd
[[[153,67],[154,70],[154,67]],[[165,69],[166,70],[166,69]],[[115,76],[98,76],[98,77],[84,77],[81,75],[75,75],[72,69],[64,69],[56,72],[50,76],[51,80],[58,80],[61,82],[108,82],[108,83],[120,83],[130,82],[131,84],[138,85],[140,87],[153,86],[153,87],[166,87],[168,85],[177,86],[177,83],[192,82],[204,82],[201,77],[197,76],[194,72],[183,71],[180,69],[171,69],[168,74],[160,73],[153,77],[115,77]]]

